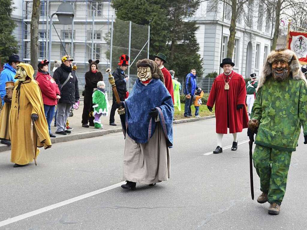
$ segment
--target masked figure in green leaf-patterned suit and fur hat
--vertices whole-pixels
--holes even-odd
[[[294,52],[277,50],[268,55],[247,133],[251,140],[257,133],[253,159],[262,191],[257,201],[270,203],[269,214],[279,214],[301,127],[307,138],[306,85]]]

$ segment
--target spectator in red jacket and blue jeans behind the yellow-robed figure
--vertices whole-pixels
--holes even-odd
[[[42,60],[38,63],[38,72],[36,75],[36,81],[41,89],[41,95],[43,97],[45,116],[48,123],[50,137],[56,137],[52,134],[50,124],[52,122],[54,108],[57,105],[58,99],[60,99],[60,90],[55,80],[50,76],[48,72],[48,60]]]

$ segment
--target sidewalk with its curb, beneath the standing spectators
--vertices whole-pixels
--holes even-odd
[[[112,106],[112,101],[109,101],[110,109]],[[85,139],[85,138],[91,138],[91,137],[98,137],[107,135],[110,133],[117,133],[122,132],[122,126],[120,123],[120,118],[117,113],[115,112],[115,123],[117,126],[111,126],[109,125],[109,119],[110,116],[107,117],[101,117],[101,123],[103,124],[103,129],[95,129],[94,127],[84,128],[82,127],[82,111],[83,111],[83,97],[80,98],[80,107],[78,110],[73,110],[73,116],[68,117],[69,126],[73,128],[71,134],[67,135],[60,135],[56,134],[56,127],[54,127],[54,121],[51,123],[51,131],[53,134],[56,135],[55,138],[51,138],[51,143],[60,143],[60,142],[67,142],[67,141],[74,141],[78,139]],[[173,121],[173,124],[179,124],[179,123],[185,123],[185,122],[193,122],[193,121],[199,121],[204,119],[210,119],[214,118],[215,116],[208,116],[208,117],[200,117],[200,118],[190,118],[190,119],[182,119],[182,120],[175,120]],[[0,152],[10,150],[10,146],[6,146],[4,144],[0,144]]]

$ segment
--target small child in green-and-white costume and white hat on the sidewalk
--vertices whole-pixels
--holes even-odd
[[[107,91],[105,90],[106,84],[103,81],[97,83],[97,90],[93,93],[93,108],[94,108],[94,124],[96,129],[102,129],[100,117],[107,116],[109,113],[109,102]]]

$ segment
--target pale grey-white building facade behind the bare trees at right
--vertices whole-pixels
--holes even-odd
[[[248,18],[243,14],[237,19],[235,48],[232,60],[233,68],[243,78],[248,78],[251,73],[259,77],[263,62],[266,60],[271,47],[272,22],[267,21],[263,14],[263,6],[257,1],[253,6],[246,8]],[[224,7],[224,17],[223,17]],[[199,29],[196,33],[200,45],[200,55],[203,58],[204,75],[221,72],[220,63],[227,56],[227,42],[231,19],[231,7],[223,2],[212,6],[212,1],[201,2],[195,16]]]

